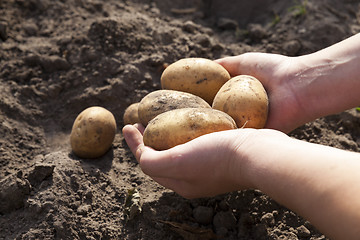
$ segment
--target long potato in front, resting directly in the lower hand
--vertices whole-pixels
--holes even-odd
[[[234,119],[224,112],[211,108],[182,108],[152,119],[143,139],[146,146],[165,150],[207,133],[235,128]]]

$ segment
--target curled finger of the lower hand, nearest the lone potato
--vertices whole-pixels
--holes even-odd
[[[137,156],[139,155],[139,149],[144,147],[144,141],[141,132],[132,125],[126,125],[122,132],[131,152],[139,161],[140,156]]]

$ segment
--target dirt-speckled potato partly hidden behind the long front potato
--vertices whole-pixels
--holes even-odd
[[[157,90],[149,93],[139,104],[139,120],[144,126],[159,115],[179,108],[211,108],[202,98],[191,93],[175,90]]]

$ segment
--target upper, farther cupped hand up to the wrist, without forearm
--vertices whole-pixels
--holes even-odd
[[[298,57],[268,53],[245,53],[216,60],[231,76],[251,75],[264,85],[269,97],[266,128],[288,133],[306,123],[296,82],[301,67]]]

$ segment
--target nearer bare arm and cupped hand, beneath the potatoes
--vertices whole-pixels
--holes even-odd
[[[123,135],[140,167],[178,194],[209,197],[255,188],[333,239],[358,239],[359,153],[296,140],[275,130],[246,128],[155,151],[144,146],[143,127],[135,126],[125,126]]]

